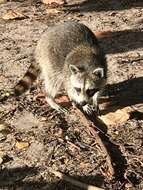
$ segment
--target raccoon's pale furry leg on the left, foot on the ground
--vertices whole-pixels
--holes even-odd
[[[68,113],[68,111],[55,102],[55,96],[62,86],[62,80],[58,78],[57,80],[50,80],[46,77],[45,79],[45,90],[46,90],[46,101],[55,110],[60,113]]]

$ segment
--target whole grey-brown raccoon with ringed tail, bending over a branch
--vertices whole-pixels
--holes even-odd
[[[49,27],[37,44],[35,59],[44,79],[46,100],[52,108],[67,112],[54,100],[64,88],[70,100],[87,114],[98,111],[98,97],[106,84],[107,63],[97,38],[87,26],[69,21]],[[16,94],[28,89],[38,72],[31,65],[16,86]]]

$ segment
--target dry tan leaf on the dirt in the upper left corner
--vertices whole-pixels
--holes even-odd
[[[13,11],[13,10],[8,10],[7,13],[5,13],[2,18],[4,20],[13,20],[13,19],[24,19],[27,18],[27,16],[23,15],[20,12]]]

